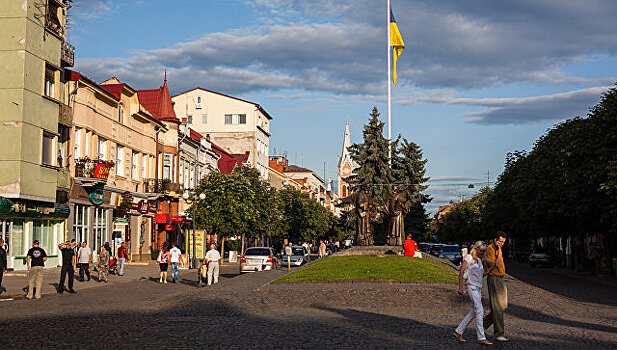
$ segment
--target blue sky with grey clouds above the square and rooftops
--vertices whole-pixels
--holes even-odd
[[[585,117],[617,81],[612,0],[391,6],[406,45],[392,136],[428,159],[429,212],[493,185],[508,152]],[[167,70],[172,94],[259,103],[271,154],[336,179],[346,119],[352,142],[373,106],[387,120],[386,16],[386,0],[75,0],[68,35],[75,69],[96,81],[156,88]]]

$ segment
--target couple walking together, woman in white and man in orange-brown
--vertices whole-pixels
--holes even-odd
[[[484,242],[478,241],[473,245],[471,252],[465,256],[459,272],[458,293],[463,294],[463,280],[466,280],[465,286],[472,307],[471,311],[454,330],[454,336],[460,342],[465,342],[463,332],[474,318],[476,319],[476,334],[480,344],[492,344],[484,335],[484,330],[490,326],[494,328],[494,340],[508,341],[504,336],[503,323],[503,314],[508,307],[508,291],[503,282],[506,269],[501,251],[505,242],[506,234],[499,231],[488,247]],[[490,302],[490,311],[486,316],[484,316],[484,308],[482,307],[483,276],[487,276],[486,283]]]

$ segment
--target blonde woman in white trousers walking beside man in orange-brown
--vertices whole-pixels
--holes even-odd
[[[476,319],[476,335],[478,343],[483,345],[492,344],[486,340],[484,335],[484,326],[482,325],[482,317],[484,316],[484,308],[482,307],[482,278],[484,277],[484,266],[482,258],[486,251],[486,245],[482,241],[477,241],[471,252],[465,255],[461,270],[458,274],[458,294],[463,295],[463,279],[465,279],[465,287],[467,295],[471,300],[471,311],[463,318],[458,327],[454,330],[454,336],[461,342],[465,342],[463,332],[467,325],[475,318]]]

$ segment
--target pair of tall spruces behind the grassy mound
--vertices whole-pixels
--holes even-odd
[[[430,202],[428,195],[422,191],[428,177],[425,176],[427,160],[423,158],[422,149],[414,142],[398,136],[390,142],[383,136],[384,123],[379,120],[379,111],[373,107],[368,124],[362,132],[363,142],[349,148],[352,160],[358,165],[346,180],[351,185],[353,194],[345,198],[343,206],[355,202],[356,193],[363,187],[370,188],[373,199],[387,203],[394,186],[407,196],[411,211],[405,217],[405,231],[414,235],[423,235],[427,230],[428,218],[424,204]],[[391,153],[391,157],[390,157]],[[345,222],[350,229],[355,225],[355,213],[348,211]],[[385,239],[385,223],[375,225],[375,243]],[[380,237],[380,233],[381,236]]]

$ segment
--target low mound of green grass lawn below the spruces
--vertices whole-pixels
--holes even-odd
[[[456,282],[458,274],[447,266],[427,259],[353,255],[320,259],[275,282],[332,280]]]

